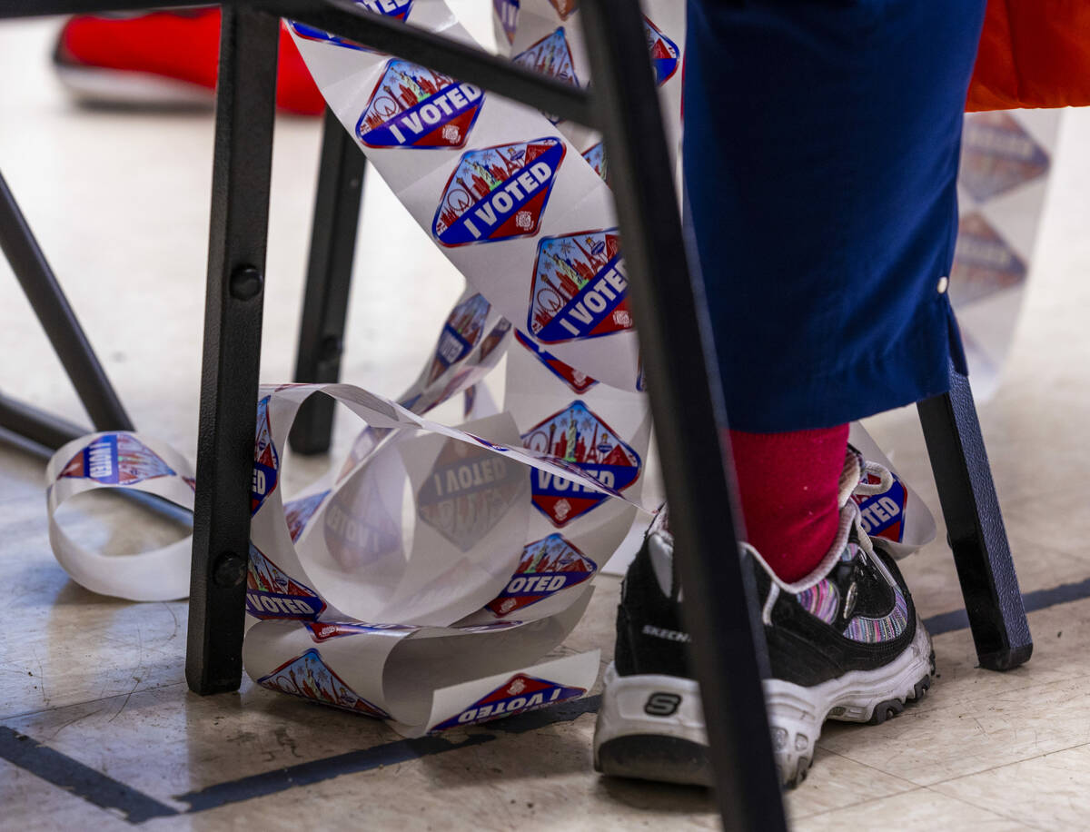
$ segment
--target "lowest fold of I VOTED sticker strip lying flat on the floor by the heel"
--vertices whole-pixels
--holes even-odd
[[[578,688],[480,710],[497,676],[536,676],[533,663],[561,643],[592,590],[557,615],[534,622],[422,627],[362,622],[262,622],[243,647],[246,673],[263,687],[387,720],[407,736],[510,715],[582,696],[597,675],[597,653],[550,666],[554,683]],[[549,663],[553,665],[553,663]],[[458,718],[477,708],[471,720]],[[480,719],[476,719],[480,716]],[[453,724],[445,724],[449,720]]]

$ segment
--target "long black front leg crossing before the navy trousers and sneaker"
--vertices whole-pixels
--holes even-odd
[[[631,0],[583,0],[592,91],[616,194],[670,505],[685,614],[726,829],[786,828],[762,676],[764,635],[738,556],[719,377],[690,277],[643,19]]]

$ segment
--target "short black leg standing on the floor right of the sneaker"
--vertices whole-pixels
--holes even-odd
[[[1033,640],[969,379],[950,367],[950,391],[918,410],[977,658],[1008,671],[1030,658]]]

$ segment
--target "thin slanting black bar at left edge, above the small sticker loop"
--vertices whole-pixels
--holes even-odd
[[[90,341],[38,246],[8,183],[0,176],[0,250],[11,264],[34,314],[46,330],[64,372],[99,431],[131,431],[132,422],[113,390]],[[17,426],[0,420],[0,425]]]

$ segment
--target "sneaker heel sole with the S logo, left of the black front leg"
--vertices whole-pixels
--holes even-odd
[[[594,726],[594,769],[614,777],[711,786],[700,689],[677,676],[618,676],[606,668]]]

